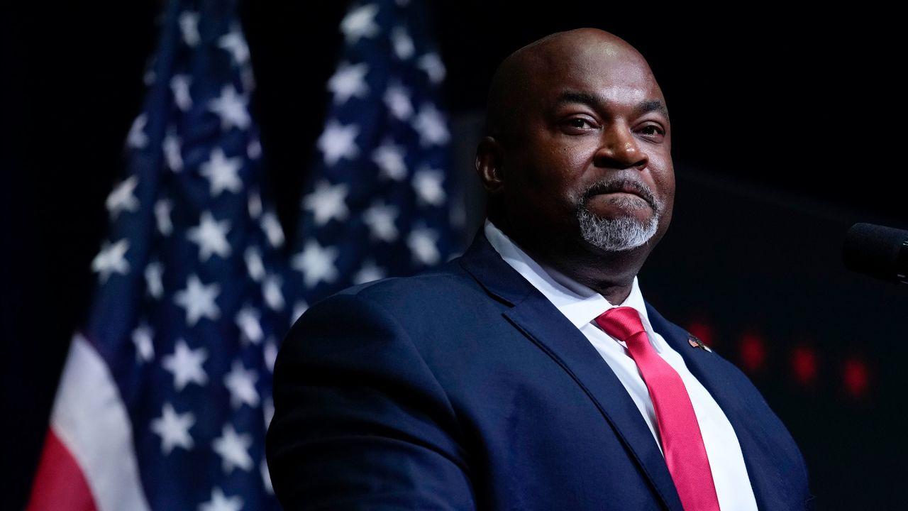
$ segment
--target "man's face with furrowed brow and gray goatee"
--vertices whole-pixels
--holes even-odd
[[[508,221],[550,243],[579,237],[608,252],[655,245],[675,195],[662,92],[627,47],[563,46],[531,66],[504,143]]]

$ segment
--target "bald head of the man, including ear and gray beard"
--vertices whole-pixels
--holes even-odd
[[[477,170],[489,217],[535,255],[639,261],[671,219],[665,98],[637,50],[582,28],[498,67]]]

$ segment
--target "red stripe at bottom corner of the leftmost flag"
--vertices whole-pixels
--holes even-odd
[[[26,511],[97,511],[92,490],[69,449],[47,430]]]

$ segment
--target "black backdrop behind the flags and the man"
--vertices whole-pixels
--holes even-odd
[[[289,4],[243,3],[242,20],[264,155],[292,233],[346,5]],[[470,223],[469,147],[495,65],[562,29],[624,37],[652,65],[674,132],[676,215],[640,276],[646,298],[745,368],[802,447],[818,508],[898,506],[908,288],[847,272],[840,252],[854,222],[908,228],[900,18],[866,4],[800,15],[602,4],[433,4]],[[158,8],[0,15],[2,509],[24,504],[91,296],[104,198],[141,105]]]

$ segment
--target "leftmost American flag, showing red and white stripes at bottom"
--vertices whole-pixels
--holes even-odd
[[[298,293],[235,2],[173,1],[107,197],[30,509],[276,509],[271,368]]]

